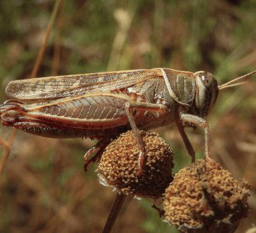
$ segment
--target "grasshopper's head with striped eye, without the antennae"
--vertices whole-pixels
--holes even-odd
[[[217,80],[209,72],[194,73],[196,93],[194,96],[194,111],[199,117],[207,117],[219,94]]]

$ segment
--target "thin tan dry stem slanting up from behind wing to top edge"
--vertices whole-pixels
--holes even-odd
[[[46,33],[44,34],[43,43],[42,43],[42,46],[41,46],[40,51],[39,51],[38,56],[37,56],[37,61],[35,61],[33,72],[32,72],[32,74],[30,76],[31,79],[33,79],[33,78],[35,78],[37,76],[39,65],[41,64],[42,57],[43,57],[44,51],[46,49],[46,43],[48,41],[48,37],[50,35],[51,29],[53,28],[53,23],[54,23],[55,18],[57,16],[57,12],[58,12],[58,9],[60,8],[60,3],[61,2],[62,2],[62,0],[57,0],[55,2],[55,6],[53,8],[53,13],[52,13],[51,19],[50,19],[50,21],[48,23],[48,27],[46,29]]]

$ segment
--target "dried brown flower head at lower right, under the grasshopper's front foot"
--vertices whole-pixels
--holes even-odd
[[[165,220],[181,232],[235,232],[248,214],[250,185],[203,159],[174,176],[165,192]]]

